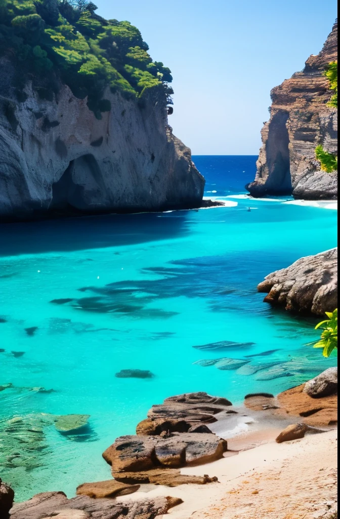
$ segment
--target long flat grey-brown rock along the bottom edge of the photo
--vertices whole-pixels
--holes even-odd
[[[15,504],[11,519],[155,519],[166,514],[171,501],[165,497],[119,502],[77,496],[67,499],[62,492],[37,494],[29,501]]]

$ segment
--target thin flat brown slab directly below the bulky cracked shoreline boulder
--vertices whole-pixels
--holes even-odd
[[[153,485],[165,485],[174,487],[194,483],[205,485],[218,481],[217,477],[194,476],[181,474],[179,469],[152,469],[145,472],[112,472],[112,476],[117,480],[127,484],[152,483]]]

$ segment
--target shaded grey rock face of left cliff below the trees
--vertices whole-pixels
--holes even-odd
[[[11,87],[0,79],[0,219],[200,207],[204,178],[167,124],[165,100],[144,105],[108,90],[98,120],[65,85]],[[41,99],[45,98],[45,99]]]

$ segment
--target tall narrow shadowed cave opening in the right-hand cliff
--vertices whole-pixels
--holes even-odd
[[[281,110],[273,116],[269,125],[266,143],[266,159],[269,174],[265,187],[271,193],[282,195],[288,195],[292,192],[289,134],[286,125],[288,116],[288,112]]]

